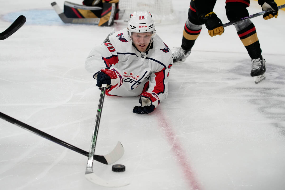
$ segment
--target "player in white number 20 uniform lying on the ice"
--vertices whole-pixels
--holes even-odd
[[[154,111],[167,97],[173,60],[168,46],[155,34],[151,14],[132,13],[128,27],[107,41],[94,47],[85,62],[86,70],[95,73],[96,85],[107,84],[106,95],[140,96],[141,105],[133,113]]]

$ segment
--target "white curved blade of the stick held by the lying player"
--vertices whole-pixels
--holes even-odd
[[[98,177],[95,173],[93,173],[93,170],[89,171],[89,173],[87,173],[87,171],[86,171],[85,177],[86,177],[86,179],[88,179],[92,183],[95,183],[95,184],[103,186],[103,187],[124,187],[124,186],[130,184],[130,183],[106,181],[106,180]]]

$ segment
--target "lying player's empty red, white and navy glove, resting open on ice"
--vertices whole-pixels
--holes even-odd
[[[154,111],[155,106],[152,105],[152,102],[155,102],[156,98],[152,96],[151,93],[145,92],[141,94],[139,102],[141,106],[135,106],[133,109],[133,113],[137,114],[148,114]]]

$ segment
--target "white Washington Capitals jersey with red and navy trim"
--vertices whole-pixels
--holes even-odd
[[[149,92],[156,97],[153,105],[157,107],[168,95],[171,50],[156,34],[150,49],[139,52],[132,45],[127,28],[115,32],[109,40],[91,50],[85,62],[86,70],[94,74],[111,67],[121,83],[107,89],[106,95],[130,97]]]

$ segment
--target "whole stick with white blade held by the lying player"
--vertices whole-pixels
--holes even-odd
[[[90,151],[89,151],[89,158],[88,158],[88,162],[87,162],[87,166],[86,166],[85,177],[89,181],[91,181],[97,185],[104,186],[104,187],[123,187],[123,186],[129,185],[129,184],[128,183],[127,184],[111,183],[109,181],[105,181],[104,179],[101,179],[100,177],[98,177],[93,172],[93,169],[92,169],[93,154],[95,152],[97,134],[98,134],[99,124],[100,124],[100,119],[101,119],[101,113],[102,113],[102,108],[103,108],[103,102],[104,102],[106,87],[107,87],[106,84],[102,85],[101,95],[100,95],[98,109],[97,109],[97,115],[96,115],[96,119],[95,119],[95,126],[94,126],[94,130],[93,130],[93,136],[92,136],[92,141],[91,141],[91,146],[90,146]]]

